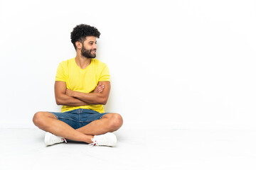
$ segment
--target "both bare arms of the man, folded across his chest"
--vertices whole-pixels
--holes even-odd
[[[107,103],[107,98],[110,95],[110,82],[100,81],[95,90],[90,93],[82,93],[79,91],[71,91],[67,89],[64,81],[55,81],[55,100],[58,105],[64,106],[85,106],[90,104]]]

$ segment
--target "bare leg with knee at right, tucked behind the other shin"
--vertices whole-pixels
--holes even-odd
[[[114,132],[122,126],[122,116],[117,113],[107,113],[103,115],[100,120],[95,120],[85,125],[82,128],[78,128],[78,132],[82,132],[86,135],[102,135],[106,132]]]

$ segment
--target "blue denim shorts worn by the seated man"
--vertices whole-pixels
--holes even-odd
[[[94,120],[99,120],[103,115],[107,113],[99,113],[97,111],[92,111],[89,109],[78,108],[73,111],[67,111],[63,113],[50,112],[55,115],[58,120],[63,121],[70,125],[74,129],[81,128],[88,125]]]

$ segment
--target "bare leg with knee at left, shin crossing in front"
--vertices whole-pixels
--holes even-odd
[[[85,135],[85,133],[73,129],[70,125],[58,120],[53,113],[38,112],[33,117],[33,123],[41,130],[51,132],[54,135],[69,140],[92,143],[92,135]]]

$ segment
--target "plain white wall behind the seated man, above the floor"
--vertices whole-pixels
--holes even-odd
[[[105,110],[124,126],[256,128],[256,2],[0,1],[0,127],[35,128],[60,111],[58,63],[75,57],[70,32],[95,26],[110,68]]]

